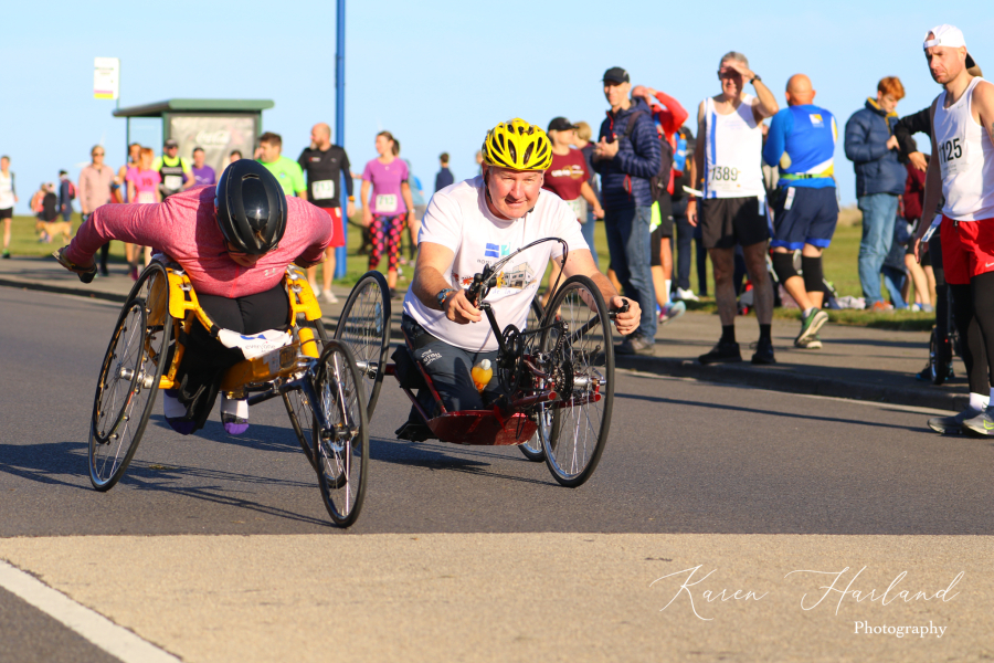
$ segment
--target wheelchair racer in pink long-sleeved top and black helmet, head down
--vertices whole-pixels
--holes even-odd
[[[242,159],[224,170],[215,187],[181,191],[157,204],[97,208],[56,257],[88,282],[96,273],[93,255],[106,242],[155,246],[186,271],[218,327],[255,335],[287,328],[286,267],[320,263],[332,232],[328,214],[287,198],[265,166]],[[244,356],[202,325],[193,325],[183,345],[178,387],[166,391],[163,406],[169,424],[188,435],[203,428],[224,372]],[[221,421],[230,434],[243,433],[247,401],[222,398]]]

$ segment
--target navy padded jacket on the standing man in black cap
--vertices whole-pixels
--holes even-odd
[[[625,128],[636,110],[641,114],[626,138]],[[593,162],[593,169],[601,176],[601,204],[607,211],[649,207],[653,204],[649,179],[659,171],[663,150],[652,113],[644,101],[633,102],[627,110],[618,110],[617,116],[607,112],[598,139],[607,138],[610,143],[612,137],[620,141],[617,155],[610,161]]]

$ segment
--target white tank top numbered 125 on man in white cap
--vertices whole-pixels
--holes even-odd
[[[953,221],[994,219],[994,145],[971,113],[973,88],[981,81],[971,81],[949,108],[943,107],[944,90],[935,104],[933,128],[945,196],[942,213]]]

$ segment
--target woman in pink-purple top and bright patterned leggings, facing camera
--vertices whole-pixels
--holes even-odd
[[[362,224],[369,228],[372,239],[369,269],[377,269],[385,249],[387,285],[390,286],[391,296],[396,287],[396,260],[400,255],[404,218],[412,227],[415,222],[411,187],[408,185],[408,165],[396,158],[399,151],[390,131],[377,134],[377,154],[380,156],[366,165],[360,191]]]

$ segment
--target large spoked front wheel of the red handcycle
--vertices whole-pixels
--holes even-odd
[[[542,351],[561,347],[559,366],[553,369],[561,391],[560,401],[547,406],[552,425],[548,435],[542,434],[542,450],[556,481],[573,488],[590,478],[607,443],[614,404],[614,347],[607,306],[586,276],[567,280],[548,308],[554,311],[563,326],[554,325],[542,334]],[[547,313],[544,325],[552,325],[550,317]]]

